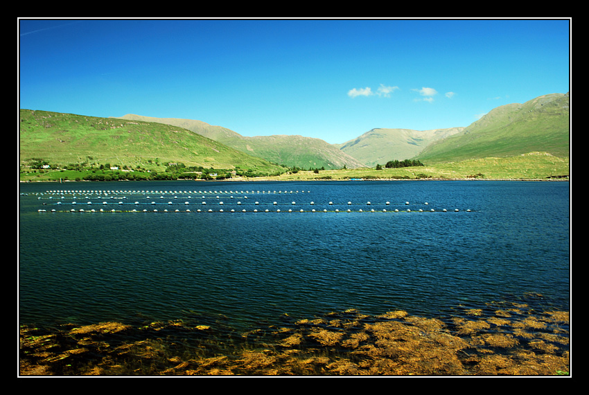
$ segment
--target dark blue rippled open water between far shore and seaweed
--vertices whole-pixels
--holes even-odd
[[[91,324],[199,314],[247,328],[284,314],[310,318],[349,308],[438,317],[459,305],[538,294],[544,306],[568,310],[569,187],[21,184],[19,320]]]

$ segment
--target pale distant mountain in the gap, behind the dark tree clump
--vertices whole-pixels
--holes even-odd
[[[445,139],[461,132],[464,128],[410,130],[383,129],[369,130],[356,139],[339,144],[340,150],[362,161],[367,166],[386,164],[387,161],[410,159],[418,155],[434,141]]]

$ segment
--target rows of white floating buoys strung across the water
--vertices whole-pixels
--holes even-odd
[[[419,203],[420,207],[418,209],[389,209],[390,206],[409,206],[410,202],[399,202],[396,204],[392,204],[391,202],[379,202],[374,203],[371,201],[362,202],[362,203],[352,203],[351,201],[346,201],[345,203],[334,204],[334,202],[330,201],[326,204],[317,204],[314,201],[304,203],[304,206],[311,207],[310,209],[304,208],[289,208],[289,209],[276,209],[276,207],[280,206],[297,206],[296,201],[291,202],[276,202],[272,201],[271,203],[260,203],[256,201],[253,203],[254,208],[245,209],[243,208],[244,202],[242,200],[247,200],[248,195],[282,195],[282,194],[297,194],[297,193],[310,193],[310,191],[116,191],[116,190],[96,190],[96,191],[86,191],[86,190],[74,190],[74,191],[66,191],[66,190],[51,190],[46,191],[45,193],[21,193],[21,195],[38,195],[38,200],[49,200],[51,202],[42,202],[42,205],[55,205],[60,206],[62,208],[64,205],[72,206],[71,209],[39,209],[37,210],[39,213],[45,212],[53,212],[53,213],[340,213],[340,212],[356,212],[356,213],[424,213],[424,212],[443,212],[446,213],[448,211],[459,212],[459,211],[466,211],[471,212],[471,209],[460,210],[460,209],[432,209],[429,208],[428,202]],[[139,196],[143,197],[143,201],[140,202],[139,200],[129,200],[128,195],[130,198],[138,198]],[[207,207],[207,199],[215,199],[218,202],[209,202],[209,206],[216,205],[218,208],[204,208]],[[229,199],[231,203],[239,206],[239,208],[231,208],[226,209],[225,202],[220,200],[221,198]],[[166,200],[167,201],[162,201]],[[236,202],[234,199],[239,199]],[[56,201],[57,200],[57,201]],[[94,202],[92,201],[94,200]],[[90,209],[89,207],[94,207],[96,204],[99,204],[102,207],[112,206],[113,204],[118,207],[118,209],[113,209],[112,207],[101,208],[101,209]],[[248,202],[248,204],[252,204]],[[78,208],[82,205],[85,205],[85,209]],[[156,207],[170,207],[170,206],[177,206],[182,205],[184,207],[188,206],[197,206],[201,208],[196,209],[161,209],[161,208],[153,208]],[[271,209],[258,209],[258,207],[262,205],[271,206]],[[356,208],[362,205],[365,209]],[[125,206],[132,206],[135,207],[134,209],[124,209]],[[151,207],[150,209],[141,208],[144,206]],[[301,204],[299,204],[301,206]],[[328,207],[324,209],[315,209],[317,206]],[[333,207],[342,207],[342,209],[334,209]],[[384,208],[375,209],[373,207],[384,206]],[[346,208],[344,208],[346,207]]]

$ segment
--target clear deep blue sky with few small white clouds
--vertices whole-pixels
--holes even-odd
[[[19,19],[19,106],[344,143],[570,89],[561,20]]]

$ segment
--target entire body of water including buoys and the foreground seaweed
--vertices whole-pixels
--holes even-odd
[[[64,185],[20,191],[33,374],[531,374],[502,359],[520,349],[552,369],[536,374],[568,363],[568,317],[536,317],[568,311],[568,182]],[[451,367],[411,362],[450,343]]]

